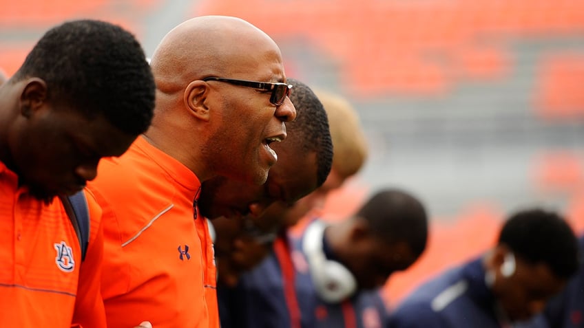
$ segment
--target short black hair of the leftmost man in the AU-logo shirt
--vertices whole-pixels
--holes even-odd
[[[13,80],[32,77],[45,81],[54,106],[101,115],[125,133],[143,133],[152,122],[152,71],[140,43],[117,25],[79,20],[48,30]]]

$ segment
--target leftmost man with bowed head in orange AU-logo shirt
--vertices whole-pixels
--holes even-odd
[[[149,127],[154,90],[135,37],[94,20],[48,30],[1,84],[4,327],[105,327],[102,211],[80,190],[102,157],[122,155]],[[67,197],[83,204],[79,221],[68,215]]]

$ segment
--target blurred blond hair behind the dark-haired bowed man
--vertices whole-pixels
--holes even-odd
[[[346,98],[315,89],[331,126],[334,155],[333,168],[347,178],[355,175],[367,159],[367,142],[357,111]]]

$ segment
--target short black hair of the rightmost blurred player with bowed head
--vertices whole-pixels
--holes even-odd
[[[544,263],[560,278],[578,268],[576,235],[556,212],[532,208],[514,213],[501,229],[499,244],[529,263]]]

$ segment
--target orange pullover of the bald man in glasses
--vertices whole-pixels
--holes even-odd
[[[108,327],[219,327],[213,245],[207,220],[194,215],[196,175],[139,137],[103,160],[88,188],[104,212]]]

